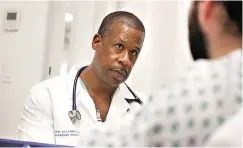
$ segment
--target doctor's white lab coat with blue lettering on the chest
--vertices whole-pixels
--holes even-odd
[[[87,130],[97,123],[94,102],[82,88],[80,80],[76,87],[76,103],[82,117],[73,124],[68,116],[72,109],[73,82],[79,68],[74,66],[66,76],[57,76],[33,86],[18,126],[20,140],[75,146],[82,129]],[[147,100],[145,95],[135,93],[143,102]],[[113,95],[107,123],[119,122],[119,119],[125,122],[130,104],[124,98],[134,99],[127,87],[121,84]]]

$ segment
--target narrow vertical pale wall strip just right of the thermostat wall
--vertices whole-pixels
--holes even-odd
[[[61,62],[64,54],[64,23],[65,12],[68,2],[51,1],[49,2],[48,22],[47,22],[47,58],[48,69],[45,73],[45,78],[51,78],[60,74]]]

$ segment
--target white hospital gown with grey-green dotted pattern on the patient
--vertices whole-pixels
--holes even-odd
[[[79,146],[203,146],[242,106],[242,50],[197,61],[184,77],[152,93],[134,120],[96,127]]]

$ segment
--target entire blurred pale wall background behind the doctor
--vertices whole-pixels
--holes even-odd
[[[190,1],[0,1],[0,138],[16,139],[28,90],[91,62],[93,35],[110,12],[137,15],[146,29],[142,52],[127,83],[148,94],[192,63],[188,49]],[[7,12],[16,12],[14,29]],[[11,19],[11,18],[9,18]]]

